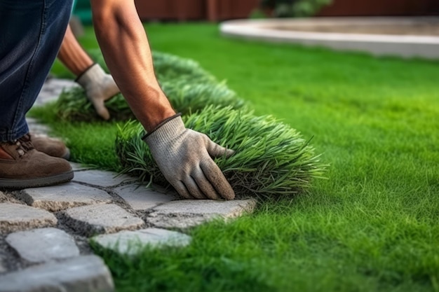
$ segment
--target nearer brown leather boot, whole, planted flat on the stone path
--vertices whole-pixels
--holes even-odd
[[[0,142],[0,188],[20,189],[51,186],[73,179],[69,162],[36,151],[29,134]]]

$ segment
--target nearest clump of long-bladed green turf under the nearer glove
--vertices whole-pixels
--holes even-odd
[[[311,179],[325,172],[309,141],[289,125],[271,116],[208,106],[183,116],[186,127],[207,134],[217,144],[231,148],[230,158],[215,162],[234,188],[236,197],[281,197],[304,192]],[[168,186],[142,137],[142,126],[129,122],[119,129],[116,153],[123,172],[142,181]]]

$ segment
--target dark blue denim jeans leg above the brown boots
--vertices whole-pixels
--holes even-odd
[[[25,115],[58,54],[72,0],[0,0],[0,141],[29,132]]]

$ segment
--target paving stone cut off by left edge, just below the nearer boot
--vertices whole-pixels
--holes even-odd
[[[57,218],[48,211],[24,204],[1,203],[0,210],[0,233],[48,227],[58,223]]]

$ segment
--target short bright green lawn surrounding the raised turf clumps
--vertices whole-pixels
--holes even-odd
[[[118,291],[439,291],[439,62],[224,39],[216,25],[147,32],[154,50],[196,60],[257,115],[313,137],[330,168],[307,194],[189,230],[184,249],[100,251]],[[53,74],[69,76],[58,63]],[[114,123],[32,114],[74,160],[119,169]]]

